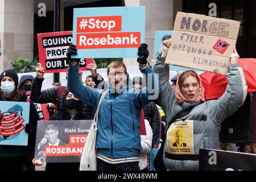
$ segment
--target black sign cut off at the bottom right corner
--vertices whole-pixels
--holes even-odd
[[[255,171],[256,155],[200,148],[200,171]]]

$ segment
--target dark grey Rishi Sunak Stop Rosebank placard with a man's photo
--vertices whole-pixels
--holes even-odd
[[[80,162],[92,120],[38,121],[35,159],[49,163]]]

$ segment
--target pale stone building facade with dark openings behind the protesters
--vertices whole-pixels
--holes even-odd
[[[39,16],[40,3],[46,5],[46,16]],[[172,30],[177,11],[208,15],[209,4],[216,4],[217,17],[241,21],[237,51],[241,57],[256,57],[255,0],[60,0],[60,31],[72,30],[73,8],[108,6],[146,6],[145,42],[150,56],[154,50],[156,30]],[[53,0],[0,0],[0,72],[11,68],[15,57],[32,59],[38,54],[36,34],[52,32]],[[123,59],[137,65],[136,59]]]

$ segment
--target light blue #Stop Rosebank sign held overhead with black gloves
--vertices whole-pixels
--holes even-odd
[[[74,9],[72,57],[138,57],[144,43],[145,7]]]

